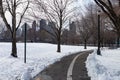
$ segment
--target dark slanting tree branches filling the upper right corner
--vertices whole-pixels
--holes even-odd
[[[118,47],[120,40],[120,0],[94,0],[95,3],[107,14],[112,23],[114,24],[113,29],[118,36]],[[114,3],[113,3],[114,2]],[[118,3],[118,4],[115,4]]]

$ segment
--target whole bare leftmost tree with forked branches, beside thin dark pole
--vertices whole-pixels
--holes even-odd
[[[21,7],[22,6],[22,9]],[[29,6],[28,0],[0,0],[0,15],[11,33],[12,37],[12,53],[13,57],[17,57],[17,47],[16,47],[16,31],[21,25],[22,19],[25,15]],[[20,9],[21,11],[18,11]],[[23,11],[22,11],[23,10]],[[8,23],[5,13],[9,12],[11,14],[12,24]],[[19,15],[19,19],[18,19]]]

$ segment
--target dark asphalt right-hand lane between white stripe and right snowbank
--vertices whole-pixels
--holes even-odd
[[[90,52],[85,52],[85,54],[77,58],[73,68],[73,80],[90,80],[90,77],[88,77],[85,67],[85,61],[89,53]]]

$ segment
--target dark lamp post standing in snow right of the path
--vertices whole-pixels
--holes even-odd
[[[101,55],[100,51],[100,10],[98,11],[98,49],[97,49],[97,55]]]

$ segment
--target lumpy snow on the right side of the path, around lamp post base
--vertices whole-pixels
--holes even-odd
[[[96,50],[86,61],[88,75],[91,80],[120,80],[120,49],[104,49],[102,56]]]

